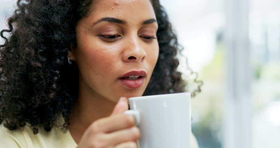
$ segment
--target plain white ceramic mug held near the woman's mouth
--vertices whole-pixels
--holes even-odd
[[[129,98],[141,137],[139,148],[190,148],[190,93]]]

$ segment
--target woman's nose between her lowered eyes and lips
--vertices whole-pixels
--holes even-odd
[[[146,51],[140,45],[140,42],[137,38],[131,37],[125,43],[126,46],[123,49],[122,60],[125,62],[139,62],[144,61],[146,58]]]

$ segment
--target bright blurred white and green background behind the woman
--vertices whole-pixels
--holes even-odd
[[[160,1],[184,47],[186,90],[203,81],[192,98],[199,147],[280,147],[280,1]],[[1,29],[14,3],[0,1]]]

